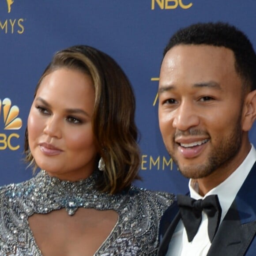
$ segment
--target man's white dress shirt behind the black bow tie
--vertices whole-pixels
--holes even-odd
[[[204,199],[209,195],[218,195],[218,200],[222,208],[222,215],[220,223],[225,217],[228,209],[230,208],[237,192],[244,183],[248,173],[252,169],[256,161],[256,150],[252,148],[241,163],[241,165],[221,184],[211,189],[205,196],[200,196],[198,193],[198,184],[190,179],[188,188],[190,196],[196,200]],[[167,256],[206,256],[211,246],[211,241],[208,237],[208,218],[202,212],[202,222],[196,233],[196,236],[191,242],[188,242],[187,232],[184,228],[183,222],[180,220],[169,243],[169,248],[166,253]]]

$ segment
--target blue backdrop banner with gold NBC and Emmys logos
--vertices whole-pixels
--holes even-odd
[[[158,128],[162,51],[177,29],[209,21],[237,26],[256,48],[255,12],[255,0],[0,0],[0,185],[32,177],[23,145],[35,86],[57,50],[85,44],[117,60],[134,87],[143,177],[136,185],[187,192]],[[250,138],[256,143],[255,127]]]

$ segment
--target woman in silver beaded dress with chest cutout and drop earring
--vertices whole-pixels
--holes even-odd
[[[53,56],[36,87],[26,160],[41,171],[0,190],[0,255],[155,255],[167,193],[135,188],[132,87],[88,46]]]

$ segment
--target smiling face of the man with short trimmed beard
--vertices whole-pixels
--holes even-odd
[[[185,177],[207,177],[241,160],[242,82],[230,49],[174,46],[163,59],[158,93],[163,141]]]

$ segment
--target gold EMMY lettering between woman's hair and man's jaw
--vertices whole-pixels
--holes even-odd
[[[173,170],[173,159],[166,158],[165,156],[148,156],[143,154],[141,158],[141,168],[142,170]]]

